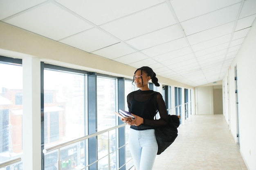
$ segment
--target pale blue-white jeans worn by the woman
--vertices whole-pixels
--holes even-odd
[[[155,129],[130,129],[128,145],[136,170],[152,170],[158,150]]]

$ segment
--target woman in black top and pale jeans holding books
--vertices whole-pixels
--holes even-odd
[[[150,79],[155,86],[159,86],[156,74],[150,67],[144,66],[135,71],[133,82],[139,90],[127,96],[129,112],[135,119],[121,118],[123,122],[130,125],[128,144],[136,170],[152,170],[158,150],[154,128],[168,124],[164,100],[160,93],[148,88]],[[155,107],[159,111],[161,120],[154,120]]]

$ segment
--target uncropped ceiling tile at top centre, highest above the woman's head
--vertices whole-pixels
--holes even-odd
[[[146,16],[146,17],[145,17]],[[175,24],[166,3],[101,25],[122,41]]]

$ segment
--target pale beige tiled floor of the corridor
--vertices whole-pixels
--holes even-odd
[[[194,115],[153,170],[247,170],[223,115]]]

